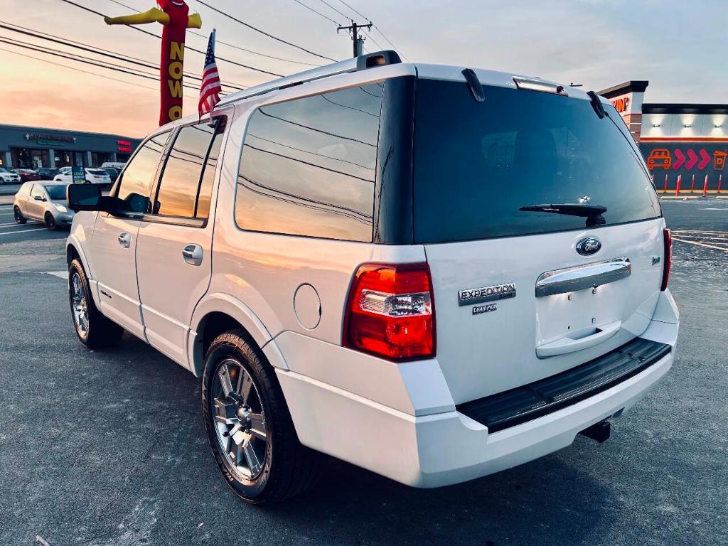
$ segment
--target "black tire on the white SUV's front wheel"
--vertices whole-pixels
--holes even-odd
[[[78,276],[79,285],[85,295],[82,302],[74,299],[78,295],[74,288],[76,276]],[[82,319],[76,317],[74,312],[77,310],[75,309],[76,305],[81,303],[83,309],[85,309],[85,314],[82,314],[85,316],[85,320],[83,321],[85,323],[85,330],[82,327]],[[68,266],[68,304],[71,306],[71,320],[74,323],[76,336],[79,337],[79,341],[86,347],[89,349],[104,349],[106,347],[113,347],[121,341],[124,335],[124,328],[108,320],[96,308],[91,296],[86,273],[78,258],[71,261],[71,265]]]

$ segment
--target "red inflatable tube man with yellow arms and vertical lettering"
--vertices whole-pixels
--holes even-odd
[[[182,117],[182,71],[184,39],[188,28],[201,28],[198,13],[189,15],[183,0],[157,0],[162,9],[153,7],[148,12],[104,17],[107,25],[142,25],[162,23],[162,57],[159,60],[159,124]]]

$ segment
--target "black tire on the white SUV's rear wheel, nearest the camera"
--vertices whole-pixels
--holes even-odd
[[[251,478],[234,470],[216,428],[213,379],[223,365],[230,366],[232,362],[242,366],[252,379],[261,415],[264,415],[265,459],[260,465],[262,470]],[[250,387],[249,391],[252,392]],[[328,457],[298,441],[275,372],[245,331],[223,333],[207,349],[202,377],[202,411],[215,462],[230,488],[245,501],[254,505],[280,502],[311,488],[323,475]]]

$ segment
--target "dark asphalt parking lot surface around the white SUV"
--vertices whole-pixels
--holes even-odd
[[[678,354],[609,441],[435,490],[331,461],[265,509],[218,475],[197,379],[132,336],[83,349],[66,233],[0,205],[0,545],[728,544],[728,201],[662,203]]]

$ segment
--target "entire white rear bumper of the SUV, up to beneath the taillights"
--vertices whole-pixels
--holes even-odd
[[[352,358],[340,352],[347,349],[289,336],[275,340],[288,365],[276,373],[301,443],[408,486],[431,488],[550,454],[590,425],[628,410],[670,369],[677,331],[674,301],[662,293],[641,338],[668,344],[668,354],[601,392],[498,432],[456,410],[435,360],[349,364]]]

